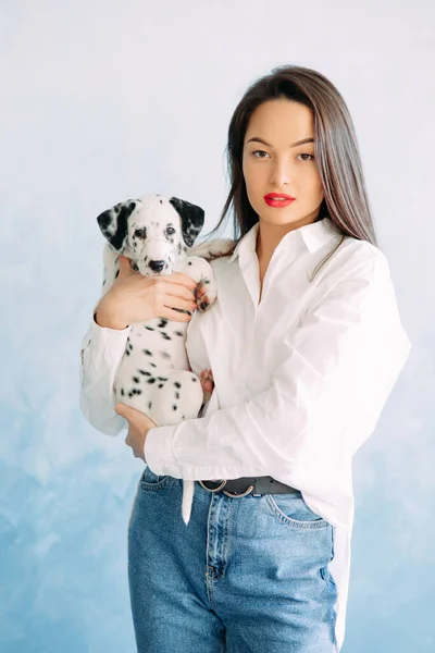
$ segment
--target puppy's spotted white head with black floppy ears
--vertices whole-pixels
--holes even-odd
[[[97,222],[117,254],[132,259],[144,276],[171,274],[177,257],[191,247],[204,211],[177,197],[145,195],[103,211]]]

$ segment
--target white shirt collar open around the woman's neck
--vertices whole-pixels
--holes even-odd
[[[233,262],[237,256],[239,256],[240,249],[254,251],[259,229],[260,223],[256,222],[248,233],[240,238],[233,251],[229,262]],[[314,251],[320,249],[322,245],[325,245],[325,243],[338,233],[339,232],[331,218],[323,218],[318,222],[304,224],[303,226],[299,226],[298,229],[288,232],[279,241],[277,247],[282,250],[286,250],[289,247],[289,244],[293,243],[295,238],[298,238],[304,244],[310,254],[314,254]]]

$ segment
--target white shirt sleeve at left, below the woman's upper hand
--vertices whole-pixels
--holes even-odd
[[[82,341],[80,410],[97,431],[107,435],[117,435],[128,428],[128,422],[114,411],[113,385],[130,329],[107,329],[94,318]]]

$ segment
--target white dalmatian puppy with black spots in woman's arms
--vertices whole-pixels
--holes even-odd
[[[177,197],[145,195],[116,204],[98,215],[107,239],[103,250],[102,295],[120,272],[120,255],[130,259],[144,276],[184,272],[197,283],[198,310],[216,300],[216,283],[209,260],[225,256],[231,239],[215,239],[192,248],[204,211]],[[176,309],[179,310],[179,309]],[[186,311],[183,311],[186,312]],[[187,311],[191,315],[191,311]],[[158,426],[177,424],[198,417],[208,396],[190,370],[186,353],[187,322],[156,318],[133,323],[114,383],[114,404],[121,402],[148,415]],[[183,519],[190,518],[194,481],[184,481]]]

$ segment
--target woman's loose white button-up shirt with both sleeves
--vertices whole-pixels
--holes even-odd
[[[377,247],[349,236],[339,244],[341,234],[328,218],[288,232],[274,250],[259,303],[258,231],[257,223],[232,256],[212,261],[217,300],[207,313],[196,311],[188,326],[192,371],[211,369],[214,378],[206,415],[151,429],[145,456],[158,475],[271,476],[300,490],[335,527],[330,569],[338,589],[340,646],[353,520],[351,457],[373,432],[411,345]],[[128,332],[92,322],[82,344],[80,407],[109,435],[128,426],[113,409]]]

